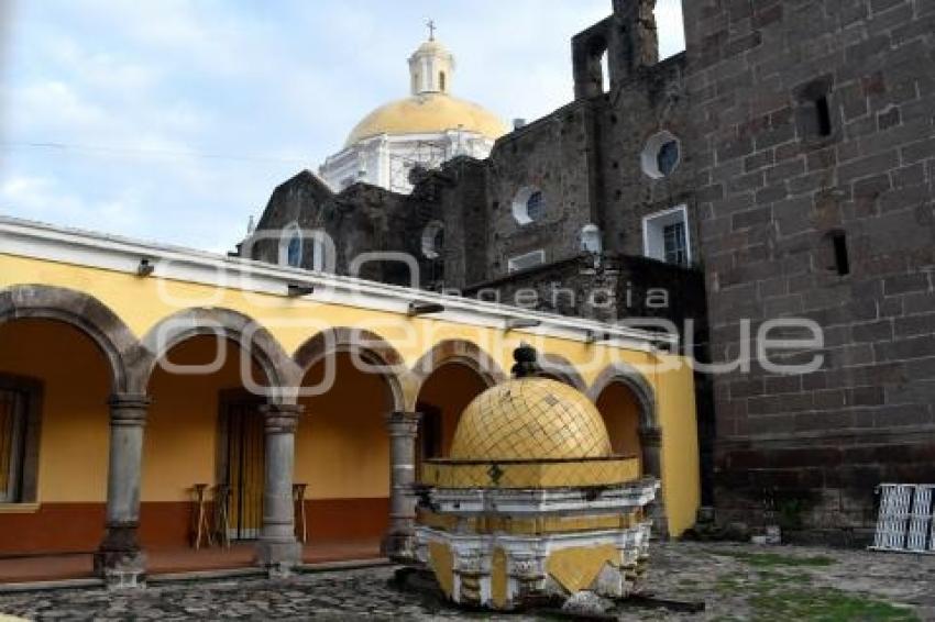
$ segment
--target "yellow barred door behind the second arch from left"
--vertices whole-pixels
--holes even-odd
[[[265,435],[254,402],[230,402],[224,412],[228,518],[231,540],[254,540],[263,527]]]

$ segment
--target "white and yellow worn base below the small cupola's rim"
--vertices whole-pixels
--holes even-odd
[[[644,509],[657,488],[436,489],[419,511],[416,556],[465,607],[515,610],[584,591],[625,598],[648,559]]]

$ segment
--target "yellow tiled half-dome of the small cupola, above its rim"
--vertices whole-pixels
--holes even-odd
[[[493,387],[461,415],[455,460],[604,458],[610,440],[601,413],[580,391],[546,378],[520,378]]]

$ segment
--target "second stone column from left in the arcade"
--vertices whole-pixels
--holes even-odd
[[[263,532],[256,544],[256,563],[271,576],[285,576],[301,563],[293,508],[293,468],[296,424],[302,407],[277,403],[266,404],[261,410],[266,431],[266,465]]]

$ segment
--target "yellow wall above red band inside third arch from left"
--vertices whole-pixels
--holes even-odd
[[[320,381],[321,368],[309,370],[306,385]],[[295,481],[308,484],[308,499],[388,497],[388,388],[355,369],[346,354],[338,356],[336,375],[331,390],[301,400]]]

